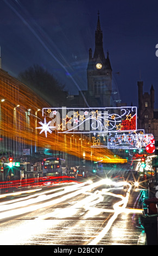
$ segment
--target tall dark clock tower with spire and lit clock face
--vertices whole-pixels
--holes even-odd
[[[92,56],[92,49],[89,50],[89,63],[87,65],[87,88],[92,100],[90,105],[96,103],[96,107],[111,106],[112,90],[112,69],[109,59],[109,53],[105,58],[103,50],[103,32],[100,27],[99,13],[97,30],[95,34],[95,50]],[[95,102],[93,104],[93,102]]]

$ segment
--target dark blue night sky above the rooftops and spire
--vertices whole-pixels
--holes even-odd
[[[137,106],[141,79],[143,92],[150,93],[153,84],[158,108],[157,0],[0,0],[2,69],[17,77],[39,64],[69,94],[86,90],[98,10],[117,99]]]

